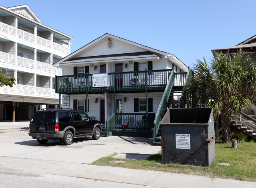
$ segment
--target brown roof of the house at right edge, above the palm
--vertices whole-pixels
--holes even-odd
[[[252,58],[256,58],[256,35],[246,39],[245,41],[237,44],[236,46],[212,49],[211,52],[213,54],[217,51],[220,51],[224,54],[237,53],[239,49],[242,49],[243,51],[245,51],[245,53],[250,53]]]

